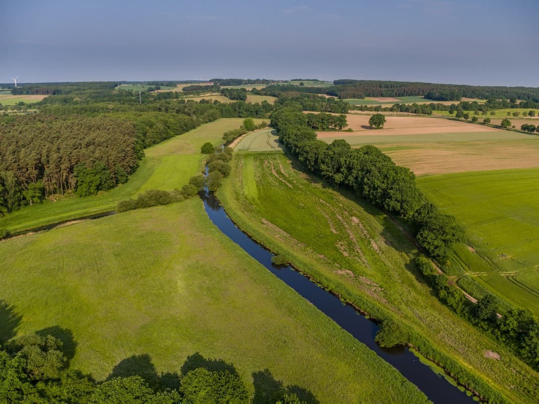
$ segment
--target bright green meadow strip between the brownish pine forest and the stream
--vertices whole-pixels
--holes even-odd
[[[262,121],[255,119],[257,124]],[[0,228],[17,232],[114,210],[120,200],[134,197],[147,189],[180,188],[202,170],[204,155],[200,153],[201,145],[205,142],[216,146],[221,144],[223,132],[239,128],[242,122],[240,118],[220,119],[157,144],[144,150],[146,157],[126,184],[92,197],[70,196],[57,202],[45,200],[39,205],[25,206],[0,218]]]

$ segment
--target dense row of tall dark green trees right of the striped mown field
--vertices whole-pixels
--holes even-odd
[[[270,118],[281,143],[309,171],[335,187],[347,186],[372,204],[409,219],[418,242],[434,258],[444,260],[453,243],[461,240],[464,231],[457,220],[429,203],[419,191],[414,173],[393,163],[378,148],[365,145],[352,149],[344,140],[331,144],[317,140],[308,117],[294,103],[275,109]]]

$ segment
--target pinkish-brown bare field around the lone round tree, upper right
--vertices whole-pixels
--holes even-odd
[[[347,114],[348,127],[354,132],[343,132],[342,136],[361,135],[421,135],[435,133],[462,133],[462,132],[491,132],[501,129],[486,126],[452,121],[443,118],[429,118],[418,116],[386,116],[384,129],[370,129],[369,119],[371,115]],[[335,137],[335,132],[319,132],[319,137]],[[341,136],[341,134],[339,134]]]

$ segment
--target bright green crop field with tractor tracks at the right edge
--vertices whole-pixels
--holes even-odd
[[[539,315],[539,169],[427,176],[418,183],[465,226],[475,250],[460,253],[466,273]]]

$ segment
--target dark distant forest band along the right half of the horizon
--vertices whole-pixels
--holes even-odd
[[[466,86],[405,81],[378,80],[335,80],[330,87],[298,87],[291,84],[269,85],[262,89],[263,94],[275,92],[303,92],[327,94],[341,99],[364,97],[402,97],[425,96],[434,101],[460,101],[462,97],[477,99],[532,100],[539,102],[539,88],[533,87],[496,87]]]

